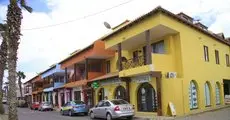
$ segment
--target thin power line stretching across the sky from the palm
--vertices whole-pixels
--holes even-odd
[[[86,16],[79,17],[79,18],[76,18],[76,19],[73,19],[73,20],[69,20],[69,21],[65,21],[65,22],[61,22],[61,23],[57,23],[57,24],[52,24],[52,25],[41,26],[41,27],[34,27],[34,28],[22,29],[22,31],[50,28],[50,27],[55,27],[55,26],[59,26],[59,25],[63,25],[63,24],[71,23],[71,22],[75,22],[75,21],[78,21],[78,20],[86,19],[88,17],[92,17],[92,16],[95,16],[95,15],[107,12],[107,11],[112,10],[114,8],[117,8],[117,7],[120,7],[122,5],[128,4],[128,3],[132,2],[132,1],[134,1],[134,0],[129,0],[127,2],[123,2],[123,3],[120,3],[120,4],[115,5],[113,7],[110,7],[110,8],[107,8],[107,9],[104,9],[104,10],[101,10],[101,11],[98,11],[98,12],[95,12],[95,13],[92,13],[92,14],[88,14]]]

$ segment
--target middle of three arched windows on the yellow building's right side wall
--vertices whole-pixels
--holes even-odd
[[[210,84],[208,82],[205,82],[204,84],[204,97],[205,97],[205,105],[210,106],[211,105],[211,92],[210,92]]]

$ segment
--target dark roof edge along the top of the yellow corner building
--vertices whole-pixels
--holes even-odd
[[[129,22],[127,25],[121,27],[120,29],[114,30],[113,32],[111,32],[111,33],[105,35],[105,36],[102,37],[101,39],[102,39],[102,40],[105,40],[105,39],[107,39],[107,38],[109,38],[109,37],[111,37],[111,36],[113,36],[113,35],[115,35],[115,34],[121,32],[121,31],[123,31],[123,30],[127,29],[128,27],[131,27],[132,25],[134,25],[134,24],[138,23],[139,21],[141,21],[141,20],[147,18],[148,16],[157,14],[157,13],[159,13],[159,12],[161,12],[161,13],[163,13],[163,14],[166,14],[167,16],[172,17],[173,19],[178,20],[179,22],[181,22],[181,23],[183,23],[183,24],[185,24],[185,25],[190,26],[190,27],[192,27],[192,28],[194,28],[194,29],[196,29],[196,30],[198,30],[198,31],[200,31],[200,32],[202,32],[202,33],[204,33],[204,34],[206,34],[206,35],[208,35],[208,36],[210,36],[210,37],[216,39],[217,41],[222,42],[222,43],[224,43],[224,44],[230,46],[230,42],[224,40],[223,38],[220,38],[220,37],[216,36],[215,34],[213,34],[213,33],[211,33],[211,32],[208,32],[207,30],[203,30],[202,28],[200,28],[200,27],[194,25],[194,24],[191,23],[191,22],[188,22],[188,21],[182,19],[182,18],[179,17],[178,15],[176,15],[176,14],[174,14],[174,13],[172,13],[172,12],[170,12],[170,11],[164,9],[164,8],[162,8],[161,6],[158,6],[158,7],[156,7],[155,9],[153,9],[152,11],[150,11],[150,12],[148,12],[148,13],[146,13],[146,14],[144,14],[144,15],[138,17],[138,18],[136,18],[135,20]]]

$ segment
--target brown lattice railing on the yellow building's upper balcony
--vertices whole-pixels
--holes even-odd
[[[138,56],[136,58],[131,58],[126,61],[122,61],[122,68],[124,70],[143,66],[143,65],[145,65],[144,56]]]

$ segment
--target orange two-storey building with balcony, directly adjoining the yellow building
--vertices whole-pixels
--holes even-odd
[[[59,64],[61,69],[65,69],[66,77],[64,88],[59,90],[63,100],[82,100],[90,106],[93,105],[93,90],[87,86],[87,82],[104,75],[105,60],[114,55],[115,51],[105,50],[104,42],[97,40],[61,61]]]

